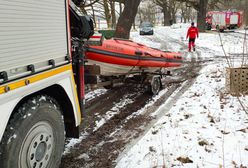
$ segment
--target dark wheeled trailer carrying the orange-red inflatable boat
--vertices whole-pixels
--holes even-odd
[[[159,72],[135,72],[119,76],[102,76],[99,65],[85,65],[85,87],[90,90],[104,87],[106,89],[114,88],[123,84],[134,84],[137,87],[146,88],[146,90],[156,95],[164,85],[166,76],[171,76],[170,71]]]

